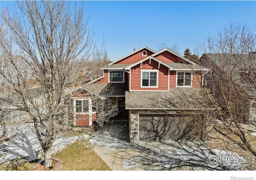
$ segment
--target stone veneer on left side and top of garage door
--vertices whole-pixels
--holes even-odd
[[[130,110],[130,142],[139,142],[139,114],[180,114],[180,112],[172,110]]]

